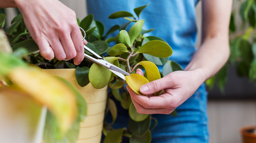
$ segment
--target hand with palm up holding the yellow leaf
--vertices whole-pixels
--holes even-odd
[[[137,74],[143,75],[138,69]],[[129,86],[132,102],[141,114],[170,114],[175,108],[185,102],[203,83],[200,70],[174,71],[161,79],[147,83],[139,88],[143,95],[138,95]],[[160,90],[159,96],[154,96]]]

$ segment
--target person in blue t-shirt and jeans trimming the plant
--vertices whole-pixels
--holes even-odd
[[[58,0],[0,0],[1,8],[18,7],[40,53],[46,59],[54,55],[58,60],[74,58],[78,65],[83,59],[83,41],[75,19],[75,13]],[[170,60],[178,62],[184,71],[175,71],[163,78],[140,87],[134,93],[130,87],[132,101],[139,113],[153,114],[158,125],[152,131],[152,142],[157,143],[206,143],[207,92],[203,82],[213,76],[229,56],[228,27],[232,0],[202,0],[202,43],[195,48],[197,28],[195,6],[198,0],[87,0],[88,14],[105,24],[126,22],[107,17],[116,11],[133,12],[148,4],[140,18],[145,19],[144,29],[154,28],[153,36],[166,40],[173,49]],[[135,14],[134,14],[135,15]],[[87,43],[84,41],[84,43]],[[160,69],[161,70],[161,69]],[[143,74],[141,70],[138,74]],[[164,89],[160,96],[152,96]],[[170,114],[178,112],[177,117]],[[120,111],[116,127],[123,127],[127,112]],[[125,140],[124,140],[125,142]]]

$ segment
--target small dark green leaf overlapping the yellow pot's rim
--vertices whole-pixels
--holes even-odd
[[[89,81],[89,70],[88,67],[76,67],[75,79],[80,87],[85,87],[90,83]]]

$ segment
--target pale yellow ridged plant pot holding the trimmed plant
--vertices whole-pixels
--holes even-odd
[[[75,69],[45,69],[43,71],[69,81],[85,98],[87,116],[80,123],[80,131],[76,143],[99,143],[107,103],[108,87],[95,89],[90,83],[85,87],[80,87],[75,79]]]

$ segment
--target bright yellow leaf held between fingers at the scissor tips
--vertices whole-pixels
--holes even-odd
[[[131,87],[131,89],[139,95],[143,95],[139,92],[139,87],[146,83],[149,83],[149,81],[144,76],[139,74],[126,75],[125,80],[129,87]]]

